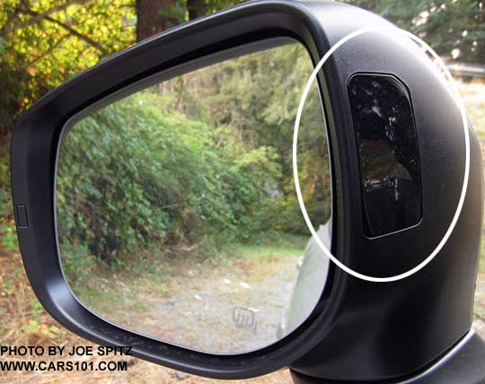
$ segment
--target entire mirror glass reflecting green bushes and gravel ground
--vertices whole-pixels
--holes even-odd
[[[312,313],[328,260],[295,196],[292,136],[313,70],[299,44],[184,74],[93,112],[57,161],[57,235],[72,291],[120,327],[211,353],[278,341]],[[298,166],[331,239],[316,85]]]

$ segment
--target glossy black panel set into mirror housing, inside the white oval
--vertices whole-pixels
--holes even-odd
[[[410,227],[421,217],[416,127],[406,88],[385,74],[348,81],[360,162],[364,230],[374,237]]]

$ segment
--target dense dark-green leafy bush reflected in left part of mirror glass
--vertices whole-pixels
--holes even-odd
[[[265,183],[278,178],[277,155],[161,110],[159,96],[141,92],[66,136],[57,171],[61,244],[113,260],[207,232],[248,236],[238,224],[263,204]]]

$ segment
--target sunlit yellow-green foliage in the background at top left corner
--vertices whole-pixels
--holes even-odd
[[[134,43],[135,28],[132,0],[2,0],[0,135],[40,95]]]

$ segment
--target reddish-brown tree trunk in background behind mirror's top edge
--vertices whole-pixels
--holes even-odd
[[[176,0],[137,0],[137,41],[177,25],[175,7]]]

